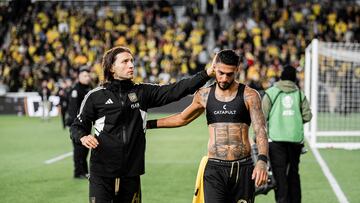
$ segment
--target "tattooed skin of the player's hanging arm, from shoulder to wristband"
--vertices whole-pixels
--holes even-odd
[[[261,109],[260,95],[257,91],[247,87],[244,99],[248,104],[259,154],[268,155],[269,144],[266,135],[265,118]]]

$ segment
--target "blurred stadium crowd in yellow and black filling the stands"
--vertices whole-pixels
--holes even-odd
[[[222,1],[207,2],[205,14],[198,3],[184,3],[181,16],[166,1],[117,7],[35,2],[22,4],[23,12],[0,6],[0,82],[10,91],[37,91],[46,81],[56,94],[85,66],[97,83],[102,54],[123,45],[135,57],[135,82],[165,84],[204,69],[216,50],[231,48],[243,56],[239,80],[261,91],[279,78],[284,64],[303,72],[304,50],[313,38],[360,39],[356,3],[230,0],[224,12],[217,4]]]

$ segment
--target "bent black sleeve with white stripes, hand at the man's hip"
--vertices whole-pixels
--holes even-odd
[[[91,94],[85,96],[81,103],[80,112],[70,127],[70,136],[80,143],[80,138],[91,133],[92,123],[95,120],[95,108]]]

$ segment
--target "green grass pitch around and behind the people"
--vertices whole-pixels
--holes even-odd
[[[151,117],[159,117],[152,115]],[[205,117],[177,129],[147,132],[144,203],[189,203],[201,157],[206,154]],[[53,164],[45,160],[72,150],[60,119],[0,117],[0,202],[82,203],[88,201],[88,182],[72,178],[72,159]],[[350,202],[360,202],[360,150],[320,150]],[[303,202],[338,202],[320,166],[309,151],[300,165]],[[256,202],[274,202],[273,192]]]

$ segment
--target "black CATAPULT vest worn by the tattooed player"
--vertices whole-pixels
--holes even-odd
[[[245,85],[239,84],[235,98],[222,102],[215,98],[216,83],[211,86],[206,104],[207,123],[246,123],[250,126],[251,118],[244,101]]]

